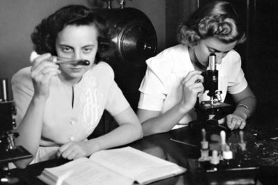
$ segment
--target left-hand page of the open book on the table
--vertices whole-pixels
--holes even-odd
[[[113,172],[108,168],[100,166],[97,163],[90,161],[87,158],[76,159],[65,165],[46,168],[42,172],[42,177],[40,179],[44,180],[46,177],[56,175],[56,179],[53,181],[56,184],[105,184],[105,185],[114,185],[114,184],[124,184],[131,185],[134,180],[126,178],[120,175],[117,172]],[[45,182],[45,180],[44,180]]]

